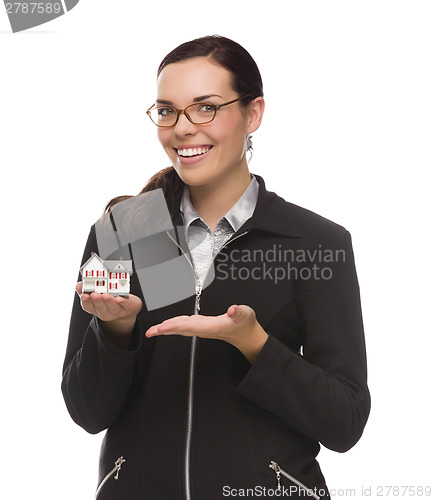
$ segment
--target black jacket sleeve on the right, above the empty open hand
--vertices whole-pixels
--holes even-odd
[[[350,234],[329,279],[300,295],[303,354],[269,335],[235,391],[325,447],[345,452],[370,412],[364,329]],[[328,264],[326,264],[328,266]]]

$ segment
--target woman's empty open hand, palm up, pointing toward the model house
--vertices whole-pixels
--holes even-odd
[[[184,335],[224,340],[237,347],[252,364],[268,334],[256,319],[256,313],[247,305],[232,305],[219,316],[176,316],[154,325],[146,337],[157,335]]]

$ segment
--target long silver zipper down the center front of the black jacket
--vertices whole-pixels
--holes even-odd
[[[245,231],[244,233],[238,234],[235,236],[233,239],[226,241],[224,245],[219,249],[218,253],[216,253],[213,257],[212,260],[210,261],[209,266],[206,269],[206,272],[203,277],[203,284],[206,281],[206,276],[209,272],[210,266],[213,264],[213,261],[215,260],[216,256],[221,252],[223,248],[225,248],[229,243],[232,241],[236,240],[237,238],[240,238],[241,236],[244,236],[247,234],[248,231]],[[200,298],[201,298],[201,292],[203,290],[203,284],[198,283],[197,279],[197,274],[195,272],[194,266],[192,262],[189,260],[188,256],[186,253],[183,251],[182,247],[175,241],[170,232],[167,231],[167,234],[169,238],[175,243],[180,250],[182,251],[183,255],[189,262],[189,265],[191,266],[191,269],[193,270],[194,273],[194,282],[195,282],[195,307],[194,307],[194,314],[199,314],[200,311]],[[188,422],[187,422],[187,427],[186,427],[186,442],[185,442],[185,497],[186,500],[191,500],[191,474],[190,474],[190,456],[191,456],[191,435],[192,435],[192,417],[193,417],[193,395],[194,395],[194,372],[195,372],[195,353],[197,349],[197,337],[192,337],[191,341],[191,355],[190,355],[190,363],[189,363],[189,387],[188,387]]]

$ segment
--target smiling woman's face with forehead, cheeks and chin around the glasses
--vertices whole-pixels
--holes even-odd
[[[157,105],[184,109],[195,102],[218,105],[237,97],[231,73],[206,57],[169,64],[158,78]],[[175,126],[158,127],[158,138],[186,184],[210,186],[242,167],[247,171],[246,138],[254,129],[251,109],[241,111],[235,102],[219,109],[210,123],[196,125],[181,114]]]

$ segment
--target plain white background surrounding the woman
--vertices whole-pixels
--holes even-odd
[[[372,411],[352,450],[319,455],[328,485],[432,486],[433,5],[284,4],[81,0],[17,34],[1,7],[2,498],[93,497],[102,434],[60,392],[84,243],[110,198],[169,165],[145,115],[160,60],[214,33],[262,72],[250,171],[353,237]]]

